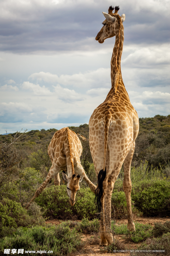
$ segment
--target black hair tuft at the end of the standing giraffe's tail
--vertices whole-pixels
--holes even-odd
[[[103,181],[106,177],[106,167],[105,170],[100,170],[97,177],[97,188],[95,190],[95,202],[97,203],[98,212],[101,211],[101,197],[103,196]]]

